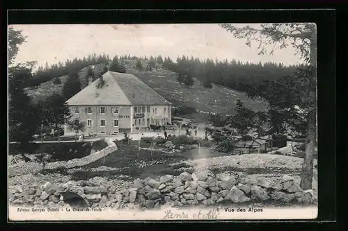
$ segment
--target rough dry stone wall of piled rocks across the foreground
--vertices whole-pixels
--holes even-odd
[[[278,203],[316,202],[311,190],[303,191],[290,176],[278,182],[267,178],[251,178],[239,174],[215,176],[210,171],[183,172],[180,176],[136,179],[125,187],[91,184],[88,181],[66,182],[14,191],[10,201],[14,204],[42,206],[81,206],[90,209],[159,209],[219,203],[250,203],[274,200]],[[72,205],[73,203],[73,205]]]

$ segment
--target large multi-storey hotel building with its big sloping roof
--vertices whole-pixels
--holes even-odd
[[[104,87],[90,83],[67,101],[72,119],[86,123],[84,135],[115,135],[171,124],[171,103],[136,76],[108,71]],[[68,126],[65,135],[76,135]]]

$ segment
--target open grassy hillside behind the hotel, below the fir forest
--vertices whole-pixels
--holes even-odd
[[[143,66],[147,61],[143,61]],[[221,112],[230,114],[235,107],[235,100],[240,99],[244,104],[253,110],[264,110],[267,104],[262,101],[253,101],[242,93],[233,89],[228,89],[219,85],[214,85],[212,89],[205,89],[198,80],[195,79],[193,87],[185,87],[177,83],[177,74],[168,69],[163,69],[161,65],[153,71],[139,71],[135,68],[135,60],[125,60],[126,71],[134,74],[145,84],[155,89],[156,92],[164,96],[173,105],[190,105],[201,112]],[[101,71],[104,64],[93,65],[93,71]],[[86,87],[86,73],[88,67],[81,69],[79,79],[81,88]],[[61,76],[61,84],[55,85],[54,80],[42,83],[38,87],[26,89],[34,101],[45,99],[54,92],[61,92],[68,76]],[[216,103],[215,103],[216,100]]]

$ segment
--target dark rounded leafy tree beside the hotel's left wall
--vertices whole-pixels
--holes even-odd
[[[52,94],[41,103],[41,106],[43,120],[56,130],[71,117],[68,103],[65,103],[65,98],[61,94]]]

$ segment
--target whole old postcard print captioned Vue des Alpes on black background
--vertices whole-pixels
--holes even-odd
[[[315,219],[317,28],[8,25],[10,221]]]

